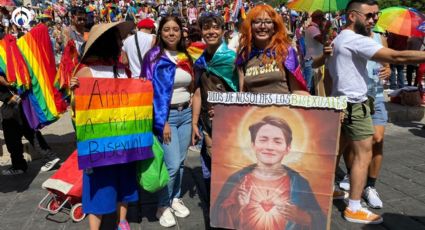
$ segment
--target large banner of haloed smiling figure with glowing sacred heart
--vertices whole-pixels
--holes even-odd
[[[217,103],[211,226],[329,229],[346,98],[209,92],[208,101]]]

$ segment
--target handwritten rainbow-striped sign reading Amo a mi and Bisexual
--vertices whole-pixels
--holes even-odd
[[[153,157],[150,81],[80,78],[75,125],[80,169]]]

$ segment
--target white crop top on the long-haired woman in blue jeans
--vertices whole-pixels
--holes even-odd
[[[168,58],[171,61],[176,63],[177,52],[166,50]],[[174,86],[173,86],[173,95],[171,97],[171,104],[180,104],[190,100],[190,92],[188,87],[192,82],[192,76],[184,71],[181,68],[176,68],[176,73],[174,74]]]

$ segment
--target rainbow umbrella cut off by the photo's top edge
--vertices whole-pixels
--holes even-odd
[[[348,2],[349,0],[292,0],[287,6],[289,9],[303,12],[335,12],[345,9]]]

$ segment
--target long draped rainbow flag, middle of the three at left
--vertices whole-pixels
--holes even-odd
[[[56,64],[47,27],[38,24],[19,38],[17,45],[31,77],[24,113],[30,127],[39,129],[56,121],[67,107],[59,91],[53,87]]]

